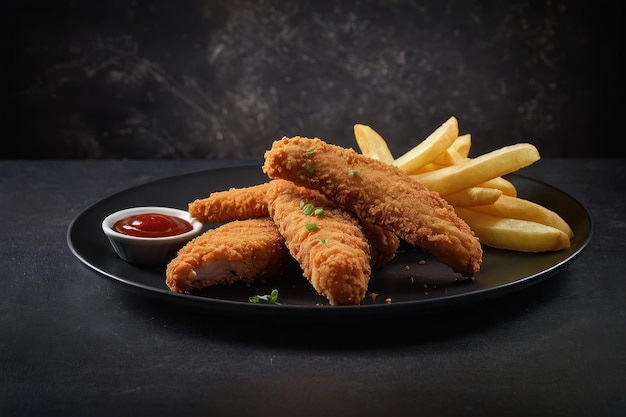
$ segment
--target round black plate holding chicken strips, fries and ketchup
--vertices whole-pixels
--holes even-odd
[[[165,265],[138,266],[121,260],[101,230],[104,217],[132,206],[169,206],[186,209],[197,198],[230,187],[267,180],[260,165],[243,165],[160,179],[111,195],[88,207],[70,224],[67,242],[85,265],[125,288],[163,301],[241,317],[288,320],[363,319],[448,309],[502,296],[552,276],[580,254],[591,240],[593,223],[587,209],[570,195],[545,183],[508,175],[518,195],[559,213],[575,233],[567,250],[521,253],[484,248],[483,264],[474,279],[464,279],[418,248],[402,245],[396,258],[372,275],[368,296],[359,306],[329,306],[312,289],[299,269],[252,285],[233,284],[177,294],[165,285]],[[210,225],[207,227],[211,227]],[[425,263],[420,261],[426,261]],[[250,296],[278,289],[280,305],[256,304]],[[376,293],[375,299],[370,296]],[[389,300],[389,302],[388,302]]]

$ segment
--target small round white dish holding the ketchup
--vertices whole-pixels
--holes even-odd
[[[158,214],[181,219],[191,225],[191,230],[172,236],[132,236],[115,230],[115,224],[129,216]],[[153,216],[154,217],[154,216]],[[163,219],[165,219],[163,217]],[[169,263],[180,248],[203,231],[203,224],[189,212],[171,207],[132,207],[116,211],[102,221],[102,231],[109,239],[115,253],[123,260],[135,264]]]

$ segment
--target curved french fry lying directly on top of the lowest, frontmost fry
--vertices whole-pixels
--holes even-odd
[[[545,224],[563,231],[570,239],[574,237],[574,232],[561,216],[540,204],[522,198],[503,195],[492,204],[474,206],[472,210],[497,217]]]

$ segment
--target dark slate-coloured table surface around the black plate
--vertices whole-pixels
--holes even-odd
[[[0,161],[0,415],[626,412],[626,160],[525,168],[589,210],[590,244],[537,285],[450,313],[347,329],[202,314],[114,285],[69,249],[91,204],[235,162]]]

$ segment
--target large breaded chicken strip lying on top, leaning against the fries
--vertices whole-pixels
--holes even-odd
[[[265,153],[263,172],[319,190],[466,277],[480,269],[480,242],[454,207],[396,167],[318,138],[284,137]]]

